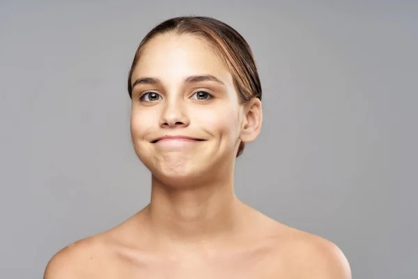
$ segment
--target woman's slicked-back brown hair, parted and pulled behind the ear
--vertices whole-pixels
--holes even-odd
[[[141,41],[132,61],[129,77],[127,80],[127,91],[132,98],[132,73],[141,52],[146,43],[157,35],[173,32],[178,35],[192,34],[205,40],[224,60],[235,83],[242,103],[247,103],[252,98],[261,100],[261,82],[254,56],[247,41],[242,38],[238,31],[224,22],[215,20],[212,17],[174,17],[154,27]],[[244,150],[244,142],[240,143],[237,157]]]

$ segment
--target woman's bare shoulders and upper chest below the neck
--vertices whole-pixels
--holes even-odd
[[[108,232],[58,252],[45,279],[351,278],[346,258],[330,241],[238,204],[245,221],[237,232],[180,242],[155,237],[147,206]]]

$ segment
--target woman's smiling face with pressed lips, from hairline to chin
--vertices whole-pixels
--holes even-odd
[[[153,38],[131,84],[132,142],[154,176],[176,183],[233,169],[244,109],[229,69],[203,40],[172,33]]]

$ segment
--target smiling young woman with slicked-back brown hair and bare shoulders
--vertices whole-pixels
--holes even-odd
[[[56,253],[46,279],[351,278],[333,243],[234,195],[235,160],[263,121],[256,63],[237,31],[210,17],[162,22],[139,45],[127,84],[150,204]]]

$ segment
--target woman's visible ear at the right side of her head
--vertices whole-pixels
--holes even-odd
[[[240,133],[241,142],[252,142],[256,139],[263,123],[263,110],[261,100],[252,98],[244,105],[245,116],[242,121]]]

